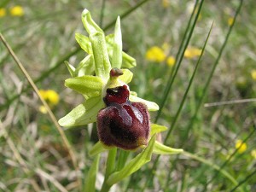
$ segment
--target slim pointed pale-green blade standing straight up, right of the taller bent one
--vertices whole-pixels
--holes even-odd
[[[121,68],[122,49],[123,49],[122,33],[121,33],[120,17],[118,17],[114,27],[112,67]]]

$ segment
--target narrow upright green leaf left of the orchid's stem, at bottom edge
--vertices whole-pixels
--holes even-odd
[[[98,172],[100,162],[100,155],[96,155],[96,158],[93,160],[92,165],[90,166],[90,170],[87,173],[87,177],[85,179],[85,187],[84,191],[95,192],[96,189],[96,173]]]

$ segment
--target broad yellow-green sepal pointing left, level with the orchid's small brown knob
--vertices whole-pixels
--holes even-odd
[[[65,86],[83,94],[86,99],[102,95],[102,79],[96,76],[84,75],[65,80]]]

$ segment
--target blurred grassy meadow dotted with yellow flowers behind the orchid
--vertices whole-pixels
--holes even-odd
[[[137,67],[131,69],[131,90],[162,105],[160,113],[151,113],[153,122],[157,119],[168,127],[162,141],[168,133],[167,145],[201,160],[163,155],[154,165],[153,155],[115,191],[256,191],[256,4],[241,2],[206,0],[201,9],[197,3],[195,14],[200,13],[193,28],[187,27],[195,6],[189,0],[3,0],[0,31],[60,119],[83,101],[64,86],[69,77],[64,61],[76,66],[85,54],[74,38],[76,32],[86,35],[81,12],[89,9],[106,34],[113,33],[113,22],[121,15],[123,49],[137,60]],[[182,46],[181,59],[177,53],[189,37],[184,38],[186,29],[192,33],[188,46]],[[0,191],[79,191],[59,131],[2,43]],[[95,125],[68,129],[65,134],[84,180],[92,164],[88,151],[96,143]],[[105,160],[103,155],[98,189]]]

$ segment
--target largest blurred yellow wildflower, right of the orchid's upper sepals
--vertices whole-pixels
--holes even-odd
[[[160,49],[160,47],[153,46],[150,49],[148,49],[146,53],[146,59],[148,61],[162,62],[165,61],[166,54],[163,51],[163,49]]]

